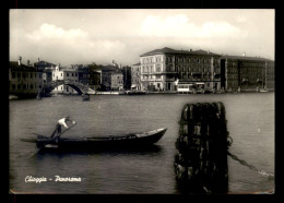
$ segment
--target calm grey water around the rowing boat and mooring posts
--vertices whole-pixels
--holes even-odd
[[[174,174],[175,141],[187,103],[223,101],[234,142],[229,151],[274,174],[274,93],[218,95],[55,96],[10,101],[10,189],[27,193],[178,193]],[[59,118],[78,124],[62,136],[120,134],[166,127],[152,150],[45,153],[20,138],[49,135]],[[274,178],[261,176],[228,157],[229,192],[274,191]],[[25,182],[26,176],[80,177],[81,182]]]

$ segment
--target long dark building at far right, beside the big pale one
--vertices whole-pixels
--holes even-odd
[[[222,87],[226,91],[274,89],[274,61],[260,57],[223,56]]]

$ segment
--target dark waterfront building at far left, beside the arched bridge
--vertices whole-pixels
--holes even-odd
[[[28,63],[29,64],[29,63]],[[43,87],[43,70],[33,65],[11,61],[9,65],[9,88],[11,95],[35,97]]]

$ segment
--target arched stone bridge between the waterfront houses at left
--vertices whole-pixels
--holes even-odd
[[[57,86],[62,85],[62,84],[72,87],[73,89],[75,89],[78,92],[79,95],[95,93],[95,91],[91,89],[85,84],[74,82],[74,81],[68,81],[68,80],[57,80],[57,81],[52,81],[50,83],[45,84],[40,89],[39,96],[43,97],[43,96],[50,95],[50,93],[54,88],[56,88]]]

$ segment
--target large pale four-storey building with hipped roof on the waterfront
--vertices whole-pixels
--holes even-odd
[[[197,91],[221,88],[221,56],[204,50],[175,50],[168,47],[140,56],[143,91],[177,91],[190,84]]]

